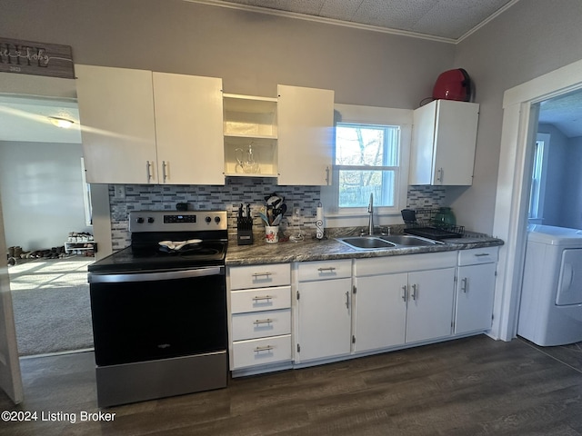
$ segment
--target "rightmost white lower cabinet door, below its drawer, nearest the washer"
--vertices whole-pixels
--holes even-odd
[[[458,269],[455,333],[491,328],[496,265],[486,263]]]

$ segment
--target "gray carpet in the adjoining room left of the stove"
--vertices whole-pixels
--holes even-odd
[[[87,264],[75,256],[8,268],[18,353],[30,356],[93,347]]]

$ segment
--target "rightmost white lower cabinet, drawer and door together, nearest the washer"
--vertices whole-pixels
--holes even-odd
[[[497,247],[458,252],[455,334],[491,329],[497,252]]]

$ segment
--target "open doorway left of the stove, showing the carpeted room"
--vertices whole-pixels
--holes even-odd
[[[92,231],[76,103],[2,94],[0,112],[0,189],[19,355],[91,348],[86,265],[93,258],[67,244]],[[64,119],[76,128],[53,123]]]

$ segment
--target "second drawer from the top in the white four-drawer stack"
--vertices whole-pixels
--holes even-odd
[[[291,286],[230,292],[230,312],[259,312],[291,307]]]

